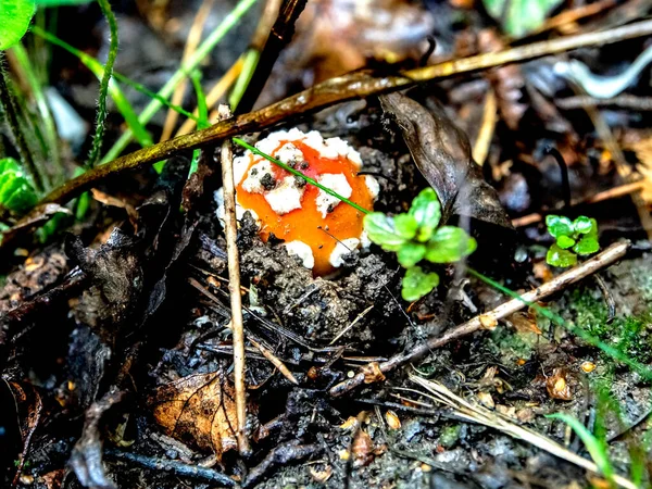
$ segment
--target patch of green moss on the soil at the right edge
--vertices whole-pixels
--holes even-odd
[[[570,293],[569,309],[575,312],[577,326],[638,362],[652,362],[652,311],[617,316],[609,324],[604,301],[588,289]]]

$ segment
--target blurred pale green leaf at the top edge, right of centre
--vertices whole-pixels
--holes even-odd
[[[562,0],[484,0],[482,3],[506,34],[523,37],[539,28]]]

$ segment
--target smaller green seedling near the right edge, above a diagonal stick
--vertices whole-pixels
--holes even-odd
[[[555,238],[550,247],[546,262],[552,266],[567,267],[577,263],[577,255],[588,255],[600,250],[598,243],[598,223],[595,220],[580,215],[570,221],[563,215],[546,217],[548,233]]]

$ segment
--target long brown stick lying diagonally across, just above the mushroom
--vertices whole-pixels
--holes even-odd
[[[259,111],[250,112],[228,121],[222,121],[208,129],[179,136],[117,158],[54,189],[43,199],[43,202],[65,203],[84,190],[96,187],[99,181],[109,175],[138,168],[170,158],[179,151],[195,149],[230,136],[261,130],[289,116],[316,111],[335,103],[408,88],[418,82],[474,73],[507,63],[521,63],[573,49],[589,46],[605,46],[651,34],[652,20],[648,20],[599,33],[568,36],[550,41],[535,42],[497,53],[478,54],[460,60],[446,61],[432,66],[402,72],[394,76],[374,77],[368,72],[350,73],[349,75],[326,80]]]

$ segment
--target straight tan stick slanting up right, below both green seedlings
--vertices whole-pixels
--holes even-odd
[[[515,312],[525,308],[528,303],[540,301],[560,290],[564,290],[570,284],[574,284],[591,274],[594,274],[601,268],[604,268],[607,265],[616,262],[620,258],[625,255],[627,249],[629,247],[629,242],[620,242],[615,243],[604,250],[602,253],[593,256],[590,260],[587,260],[581,265],[575,266],[567,272],[559,275],[547,284],[543,284],[540,287],[537,287],[535,290],[530,290],[529,292],[525,292],[518,299],[512,299],[511,301],[503,302],[493,311],[477,315],[471,321],[467,321],[464,324],[455,326],[454,328],[447,331],[443,336],[434,336],[428,338],[428,340],[422,344],[413,349],[408,353],[401,353],[392,356],[387,362],[383,362],[379,364],[380,372],[384,374],[391,372],[401,365],[405,365],[410,362],[415,362],[422,356],[426,355],[436,348],[443,347],[450,341],[460,339],[464,336],[471,335],[482,328],[482,322],[487,321],[496,321],[502,319],[510,314],[514,314]],[[364,367],[362,368],[364,369]],[[343,383],[334,386],[329,393],[333,397],[339,397],[355,387],[361,386],[365,381],[364,373],[359,372],[354,377],[344,380]]]

